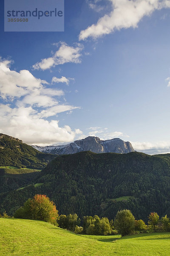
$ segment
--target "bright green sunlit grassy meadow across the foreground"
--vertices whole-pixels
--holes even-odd
[[[0,255],[169,256],[170,233],[85,236],[42,221],[0,218]]]

